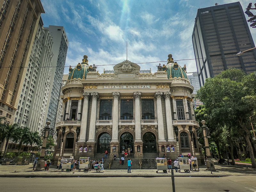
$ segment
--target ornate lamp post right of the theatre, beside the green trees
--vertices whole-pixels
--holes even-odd
[[[207,138],[207,133],[206,133],[206,128],[207,127],[205,125],[204,120],[202,120],[201,123],[203,124],[202,130],[203,130],[203,136],[204,136],[205,153],[206,153],[206,157],[207,157],[207,160],[205,161],[206,162],[206,169],[211,170],[211,171],[216,171],[216,169],[214,167],[214,162],[212,161],[210,148],[209,148],[209,143],[208,143],[208,138]]]

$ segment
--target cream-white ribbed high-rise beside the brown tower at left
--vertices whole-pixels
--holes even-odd
[[[40,132],[44,127],[52,75],[53,41],[43,25],[40,18],[14,119],[14,123],[21,127],[29,127],[33,132]]]

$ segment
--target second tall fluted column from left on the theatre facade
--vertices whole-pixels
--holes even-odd
[[[92,111],[90,119],[90,129],[89,129],[89,140],[88,142],[96,142],[95,140],[95,127],[96,127],[96,111],[97,111],[97,99],[99,97],[98,93],[91,93],[92,96]]]

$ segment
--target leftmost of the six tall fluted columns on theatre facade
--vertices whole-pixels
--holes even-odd
[[[84,106],[83,106],[83,114],[81,121],[81,130],[80,130],[80,138],[78,142],[85,142],[86,131],[87,131],[87,116],[88,116],[88,103],[89,103],[90,93],[84,93]]]

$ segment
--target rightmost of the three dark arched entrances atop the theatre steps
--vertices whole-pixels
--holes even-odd
[[[156,153],[156,136],[151,132],[146,132],[142,138],[143,153]]]

